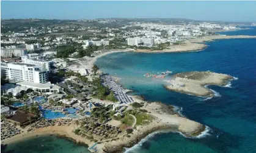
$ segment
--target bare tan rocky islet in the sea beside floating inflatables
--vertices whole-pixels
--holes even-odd
[[[205,85],[218,85],[224,87],[234,77],[227,74],[213,73],[211,71],[193,71],[178,73],[166,80],[170,85],[165,85],[168,90],[180,93],[193,94],[196,96],[213,97],[214,93]]]

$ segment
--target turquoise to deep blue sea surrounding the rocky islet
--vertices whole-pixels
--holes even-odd
[[[256,35],[256,27],[221,34]],[[175,105],[182,115],[210,128],[200,138],[186,138],[172,132],[152,133],[133,148],[127,148],[126,152],[256,152],[256,39],[217,40],[207,45],[208,48],[200,52],[119,52],[97,60],[96,64],[101,71],[120,77],[120,84],[133,90],[133,94],[141,95],[147,101]],[[161,73],[166,70],[174,74],[210,70],[230,74],[238,80],[230,82],[228,87],[209,86],[216,92],[216,97],[205,99],[167,91],[163,88],[163,80],[144,77],[145,73]],[[86,147],[76,146],[63,139],[49,141],[46,147],[42,147],[42,140],[39,139],[13,143],[7,149],[33,153],[88,152]]]

